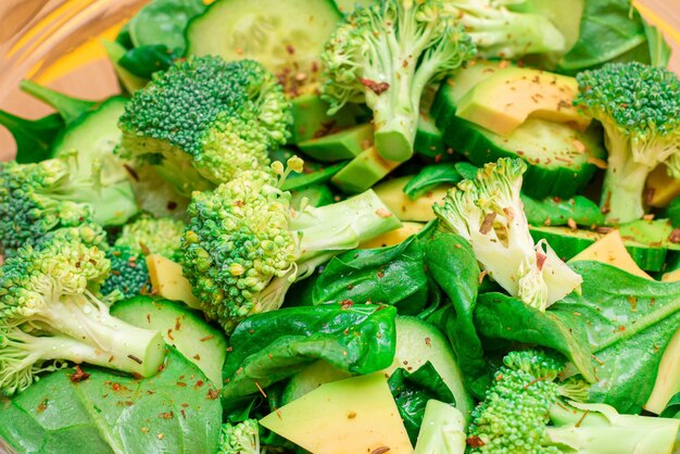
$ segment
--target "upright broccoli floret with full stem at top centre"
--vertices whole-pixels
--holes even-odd
[[[378,152],[413,155],[423,90],[475,56],[470,37],[440,0],[383,0],[340,23],[322,54],[329,113],[366,102]]]

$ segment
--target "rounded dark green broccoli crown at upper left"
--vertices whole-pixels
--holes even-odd
[[[153,75],[121,117],[121,153],[154,164],[185,196],[269,163],[286,142],[291,104],[254,61],[191,56]]]

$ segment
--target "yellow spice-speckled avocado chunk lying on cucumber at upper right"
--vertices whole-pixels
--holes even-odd
[[[511,135],[529,117],[569,123],[584,130],[591,118],[574,106],[577,93],[574,77],[507,67],[469,90],[461,99],[456,115],[501,136]]]

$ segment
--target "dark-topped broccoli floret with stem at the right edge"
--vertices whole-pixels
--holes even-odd
[[[642,63],[610,63],[577,75],[575,104],[600,121],[608,151],[601,207],[607,223],[644,215],[644,184],[664,163],[680,177],[680,80]]]

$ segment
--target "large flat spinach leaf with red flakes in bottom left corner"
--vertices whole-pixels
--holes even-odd
[[[0,436],[21,452],[214,453],[222,406],[201,370],[168,348],[155,377],[83,366],[45,376],[0,405]]]

